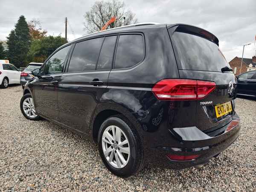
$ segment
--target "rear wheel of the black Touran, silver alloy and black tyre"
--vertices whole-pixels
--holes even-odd
[[[98,147],[105,166],[119,177],[129,177],[143,168],[144,155],[139,135],[122,115],[111,116],[102,123]]]

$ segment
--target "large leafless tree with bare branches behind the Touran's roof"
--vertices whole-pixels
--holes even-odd
[[[100,31],[112,17],[116,17],[117,21],[116,23],[109,24],[106,29],[138,23],[131,9],[125,11],[124,2],[119,0],[102,0],[96,1],[90,11],[85,13],[84,31],[87,31],[87,33]],[[125,20],[123,17],[125,17]]]

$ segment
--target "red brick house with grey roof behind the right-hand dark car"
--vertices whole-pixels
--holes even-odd
[[[241,61],[242,61],[242,58],[235,57],[229,62],[230,67],[233,69],[233,73],[236,76],[238,76],[240,74]],[[255,69],[256,69],[256,56],[253,56],[253,58],[251,58],[251,59],[243,58],[241,73],[247,72],[249,70],[255,70]]]

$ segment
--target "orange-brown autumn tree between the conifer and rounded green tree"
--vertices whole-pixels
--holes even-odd
[[[35,18],[28,23],[31,42],[46,37],[47,30],[42,31],[41,23]]]

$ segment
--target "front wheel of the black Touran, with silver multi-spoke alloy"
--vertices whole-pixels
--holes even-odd
[[[20,110],[27,119],[35,121],[42,119],[41,116],[35,112],[34,102],[30,93],[23,95],[21,98]]]

